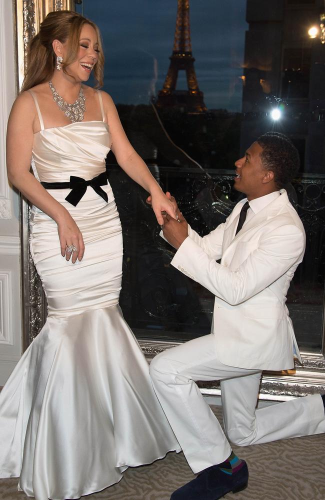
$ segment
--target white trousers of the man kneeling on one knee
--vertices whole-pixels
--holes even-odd
[[[213,335],[161,352],[151,361],[154,390],[194,473],[225,460],[231,447],[195,380],[220,380],[223,422],[240,446],[325,432],[319,394],[256,409],[261,371],[222,364]]]

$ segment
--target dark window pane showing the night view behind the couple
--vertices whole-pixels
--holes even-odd
[[[325,265],[322,3],[204,0],[202,8],[201,0],[191,0],[182,24],[176,0],[83,0],[77,7],[101,30],[104,90],[131,143],[200,234],[239,199],[233,163],[258,135],[280,131],[296,145],[301,168],[288,194],[307,243],[288,307],[299,345],[316,351]],[[317,28],[313,38],[310,27]],[[126,320],[141,337],[208,333],[213,296],[170,266],[173,252],[159,236],[146,194],[111,153],[107,162],[124,233]]]

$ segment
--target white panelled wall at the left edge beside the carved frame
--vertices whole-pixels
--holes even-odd
[[[0,1],[0,385],[21,355],[19,199],[5,169],[5,132],[15,98],[13,11]]]

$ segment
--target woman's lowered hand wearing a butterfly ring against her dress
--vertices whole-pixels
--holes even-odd
[[[57,222],[57,232],[62,257],[65,256],[66,260],[71,258],[73,264],[76,259],[80,261],[84,253],[83,238],[80,229],[68,212],[64,214],[61,221]]]

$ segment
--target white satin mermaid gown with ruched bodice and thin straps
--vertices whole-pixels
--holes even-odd
[[[40,181],[105,171],[104,121],[44,129],[37,110],[32,157]],[[36,500],[98,491],[127,466],[179,449],[118,305],[122,232],[109,183],[102,189],[107,203],[89,186],[75,207],[64,199],[70,189],[49,190],[83,235],[84,257],[74,264],[60,254],[56,223],[32,208],[30,247],[48,317],[0,393],[0,477],[19,477],[18,489]]]

